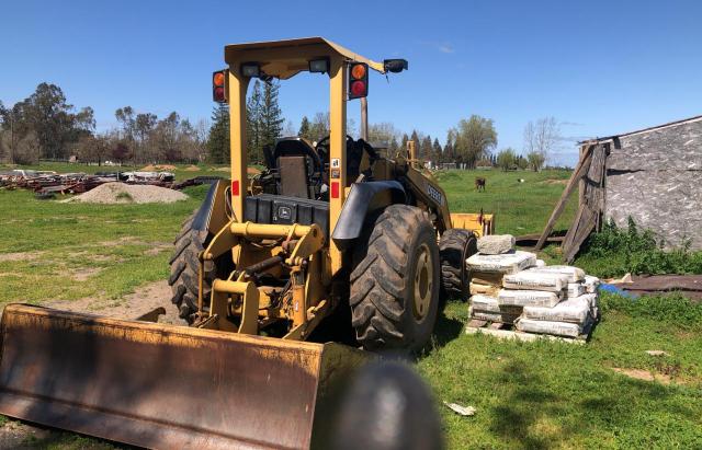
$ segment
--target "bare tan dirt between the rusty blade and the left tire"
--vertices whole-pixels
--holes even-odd
[[[160,323],[186,325],[178,316],[178,310],[171,304],[171,288],[167,280],[155,281],[137,288],[121,299],[82,298],[78,300],[47,301],[44,307],[65,311],[87,312],[115,319],[136,319],[158,307],[166,309]]]

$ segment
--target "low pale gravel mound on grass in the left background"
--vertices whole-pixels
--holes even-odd
[[[89,204],[171,204],[186,199],[181,192],[160,186],[105,183],[67,201]]]

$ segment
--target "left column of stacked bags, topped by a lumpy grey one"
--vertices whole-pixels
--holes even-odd
[[[471,273],[472,319],[513,323],[522,313],[518,304],[501,303],[499,292],[507,276],[536,266],[536,255],[514,250],[514,236],[487,235],[478,239],[478,253],[466,259]]]

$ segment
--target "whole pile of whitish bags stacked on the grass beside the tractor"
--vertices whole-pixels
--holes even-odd
[[[495,245],[497,240],[502,245]],[[535,254],[514,250],[513,242],[512,236],[480,238],[478,253],[466,259],[468,327],[490,323],[492,330],[586,338],[599,315],[599,280],[577,267],[546,266]]]

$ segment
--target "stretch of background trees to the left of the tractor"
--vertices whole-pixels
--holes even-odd
[[[207,124],[191,124],[172,112],[159,118],[132,106],[115,111],[117,127],[98,132],[90,106],[76,109],[63,90],[41,83],[12,106],[0,102],[0,160],[15,164],[42,159],[82,162],[197,162],[206,157]]]

